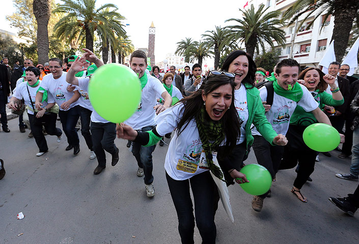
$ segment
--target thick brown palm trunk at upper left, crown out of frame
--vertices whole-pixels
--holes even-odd
[[[37,53],[38,63],[48,62],[48,21],[51,16],[49,0],[34,0],[33,11],[37,21]]]

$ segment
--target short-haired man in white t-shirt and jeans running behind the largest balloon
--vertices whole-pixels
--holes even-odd
[[[136,112],[124,123],[131,126],[134,130],[142,132],[151,131],[156,125],[154,120],[156,114],[169,108],[172,104],[171,95],[157,78],[145,73],[146,67],[146,53],[141,50],[134,51],[130,56],[130,68],[140,78],[142,87],[141,102]],[[156,105],[157,94],[161,95],[164,99],[163,105]],[[119,127],[117,129],[119,129]],[[152,152],[154,151],[155,146],[156,145],[146,147],[142,146],[139,142],[132,142],[132,154],[136,158],[137,165],[139,166],[137,169],[137,176],[141,177],[145,175],[144,181],[146,185],[146,195],[148,197],[153,197],[155,195],[155,190],[152,184]]]

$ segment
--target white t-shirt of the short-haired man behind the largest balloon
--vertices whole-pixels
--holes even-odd
[[[154,120],[156,111],[153,109],[157,104],[156,97],[157,95],[167,92],[163,87],[163,84],[157,78],[149,75],[147,75],[147,77],[148,81],[142,90],[139,107],[136,112],[124,122],[134,130],[140,130],[146,126],[156,125]],[[122,106],[125,106],[125,104]]]

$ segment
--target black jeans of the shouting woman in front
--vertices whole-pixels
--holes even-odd
[[[175,180],[166,172],[173,203],[178,217],[178,231],[182,243],[195,243],[195,217],[189,193],[189,184],[195,202],[197,228],[202,243],[215,243],[216,227],[214,215],[218,202],[218,190],[209,171],[196,174],[186,180]]]

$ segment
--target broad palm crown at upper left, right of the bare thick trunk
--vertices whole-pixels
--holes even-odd
[[[86,40],[86,48],[93,50],[94,32],[97,31],[102,41],[115,41],[115,33],[126,35],[114,4],[105,4],[95,9],[96,0],[63,0],[54,13],[67,13],[54,26],[56,35],[68,42],[77,39]]]

